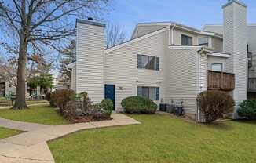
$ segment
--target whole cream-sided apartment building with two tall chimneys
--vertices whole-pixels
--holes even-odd
[[[247,100],[247,6],[232,0],[223,11],[224,32],[142,23],[130,41],[110,49],[104,49],[104,24],[77,20],[71,89],[88,92],[93,102],[110,98],[117,111],[127,96],[182,104],[198,121],[196,96],[207,89],[229,92],[237,106]]]

